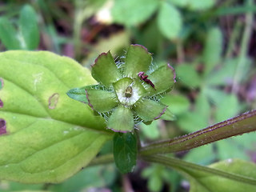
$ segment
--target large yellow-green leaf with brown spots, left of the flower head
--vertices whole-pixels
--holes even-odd
[[[94,84],[74,60],[46,51],[0,54],[0,179],[62,182],[86,166],[110,134],[89,106],[66,95]]]

